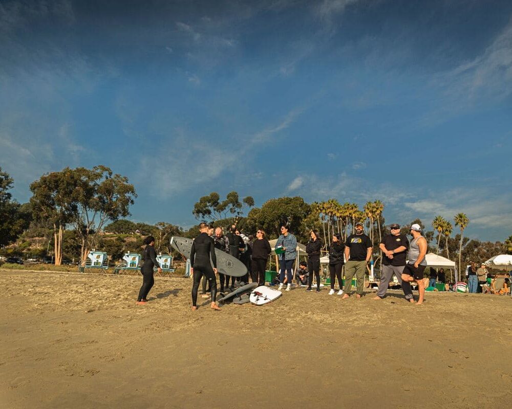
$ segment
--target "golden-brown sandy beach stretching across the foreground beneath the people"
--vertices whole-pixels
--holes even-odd
[[[0,271],[3,408],[506,407],[512,300],[294,289],[190,311],[191,280]],[[203,302],[204,300],[201,300]]]

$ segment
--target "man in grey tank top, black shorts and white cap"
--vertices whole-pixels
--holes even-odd
[[[425,286],[423,285],[423,271],[426,267],[426,239],[421,235],[421,226],[414,223],[411,226],[413,240],[409,245],[408,263],[402,272],[403,281],[416,281],[418,284],[419,299],[417,305],[423,304]]]

